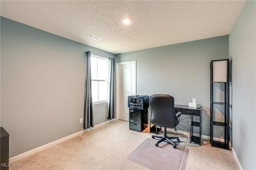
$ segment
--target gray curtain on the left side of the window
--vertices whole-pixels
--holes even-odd
[[[86,74],[84,90],[84,129],[93,127],[91,52],[86,52]]]

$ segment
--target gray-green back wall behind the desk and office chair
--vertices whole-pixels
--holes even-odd
[[[227,58],[228,35],[123,53],[116,63],[136,60],[137,94],[170,94],[182,105],[196,98],[204,109],[202,134],[210,136],[210,61]],[[188,131],[188,123],[180,124]]]

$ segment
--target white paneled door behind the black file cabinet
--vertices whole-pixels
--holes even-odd
[[[116,115],[129,121],[128,96],[136,94],[136,61],[116,63]]]

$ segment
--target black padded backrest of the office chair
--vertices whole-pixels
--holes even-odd
[[[172,96],[153,94],[149,98],[149,103],[153,124],[165,127],[176,127],[178,125]]]

